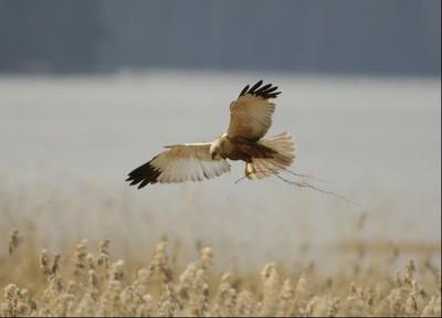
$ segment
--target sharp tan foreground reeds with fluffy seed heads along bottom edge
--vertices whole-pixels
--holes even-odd
[[[223,273],[210,247],[180,268],[167,241],[137,266],[113,255],[108,240],[62,255],[32,246],[11,233],[0,259],[1,316],[441,316],[440,272],[413,259],[396,274],[368,267],[327,277],[315,264]]]

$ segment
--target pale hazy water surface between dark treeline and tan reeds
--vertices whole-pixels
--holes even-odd
[[[164,145],[223,132],[230,102],[261,77],[283,92],[270,135],[293,132],[293,170],[330,180],[311,182],[360,206],[277,178],[234,184],[243,173],[240,162],[210,182],[141,191],[124,182]],[[252,264],[296,263],[303,248],[318,254],[346,240],[436,243],[440,85],[439,78],[255,73],[2,77],[2,195],[11,200],[24,191],[43,199],[38,206],[21,202],[17,212],[10,208],[17,203],[3,202],[0,216],[7,221],[0,231],[20,226],[25,216],[35,222],[42,244],[53,248],[70,233],[72,240],[107,236],[116,244],[123,237],[126,252],[134,242],[152,245],[167,234],[185,244],[212,245],[215,255],[224,255],[220,262]],[[66,201],[49,204],[54,193]],[[367,222],[358,230],[361,213]]]

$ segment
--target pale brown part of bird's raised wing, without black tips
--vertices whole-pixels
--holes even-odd
[[[230,106],[229,137],[260,139],[272,125],[275,104],[259,96],[246,94]]]

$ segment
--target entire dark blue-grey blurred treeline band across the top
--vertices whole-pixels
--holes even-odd
[[[0,0],[0,72],[440,75],[439,0]]]

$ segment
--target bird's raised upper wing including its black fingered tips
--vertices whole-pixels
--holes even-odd
[[[238,99],[230,104],[229,137],[257,140],[267,132],[275,112],[275,104],[269,99],[276,98],[281,92],[276,92],[277,86],[262,84],[260,81],[250,88],[245,86]]]

